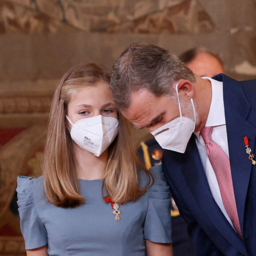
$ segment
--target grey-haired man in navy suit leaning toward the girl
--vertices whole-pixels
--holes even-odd
[[[197,255],[256,255],[255,85],[223,74],[201,78],[151,44],[130,45],[113,66],[118,109],[167,149],[163,172]],[[202,137],[209,127],[210,144],[226,156],[218,149],[218,169],[230,175],[224,185]]]

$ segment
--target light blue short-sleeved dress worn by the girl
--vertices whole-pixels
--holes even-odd
[[[26,249],[48,245],[54,256],[144,256],[145,239],[170,243],[171,196],[160,166],[154,168],[154,185],[136,202],[120,204],[120,221],[102,199],[102,180],[79,180],[85,204],[62,208],[47,199],[42,176],[18,177]],[[140,179],[143,184],[143,176]]]

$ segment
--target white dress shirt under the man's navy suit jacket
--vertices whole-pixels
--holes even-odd
[[[222,150],[226,153],[226,155],[229,158],[226,119],[223,101],[223,83],[211,79],[209,77],[202,78],[207,79],[211,82],[212,89],[211,106],[205,126],[213,126],[211,134],[212,139],[222,148]],[[207,156],[203,137],[200,135],[200,132],[194,132],[194,134],[196,135],[196,146],[200,154],[203,169],[205,171],[212,196],[215,199],[216,203],[218,204],[218,207],[221,209],[222,213],[225,215],[226,219],[228,220],[228,222],[230,222],[230,225],[234,229],[233,223],[230,220],[230,217],[227,214],[225,207],[223,205],[221,193],[218,186],[218,181],[215,176],[215,172],[211,166],[210,160]]]

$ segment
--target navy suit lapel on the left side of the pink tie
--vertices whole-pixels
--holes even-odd
[[[193,196],[193,199],[190,198],[188,203],[195,210],[194,216],[198,217],[197,221],[205,233],[216,243],[218,243],[219,239],[226,239],[238,251],[243,251],[243,242],[230,226],[211,194],[194,136],[191,137],[187,150],[183,155],[181,172]],[[185,196],[188,195],[186,194]],[[200,203],[198,204],[198,202]],[[218,230],[219,234],[216,233],[216,230]]]

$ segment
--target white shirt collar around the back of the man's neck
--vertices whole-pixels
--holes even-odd
[[[210,77],[202,77],[211,82],[211,106],[205,126],[218,126],[226,124],[225,111],[224,111],[224,100],[223,100],[223,82],[219,82]],[[194,132],[197,139],[199,139],[199,132]]]

